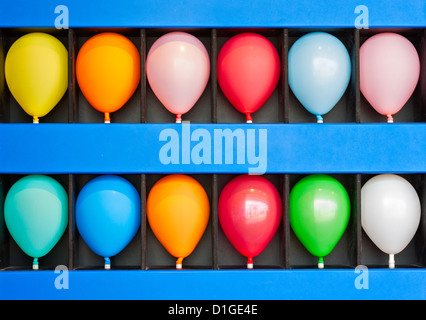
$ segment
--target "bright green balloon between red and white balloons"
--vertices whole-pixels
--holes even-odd
[[[343,185],[328,175],[310,175],[290,192],[290,225],[318,266],[339,242],[349,222],[350,200]]]

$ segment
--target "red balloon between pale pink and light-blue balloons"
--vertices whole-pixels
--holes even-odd
[[[231,104],[247,117],[274,92],[280,77],[280,58],[273,44],[256,33],[230,38],[217,57],[217,80]]]

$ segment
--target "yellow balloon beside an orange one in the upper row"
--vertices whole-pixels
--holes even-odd
[[[26,34],[10,47],[5,77],[13,97],[33,122],[48,114],[68,87],[68,51],[55,37]]]

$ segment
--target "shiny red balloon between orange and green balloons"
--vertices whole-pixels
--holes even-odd
[[[222,190],[218,204],[222,229],[239,253],[248,258],[260,254],[278,230],[282,218],[281,197],[265,177],[241,175]]]

